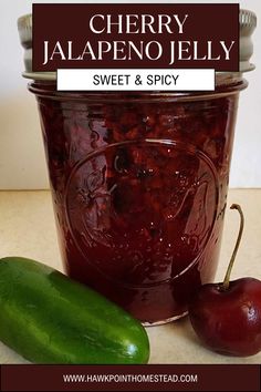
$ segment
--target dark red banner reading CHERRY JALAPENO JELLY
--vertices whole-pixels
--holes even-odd
[[[33,4],[33,71],[239,70],[239,4]]]

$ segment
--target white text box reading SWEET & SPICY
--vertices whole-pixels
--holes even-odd
[[[213,91],[215,70],[58,70],[58,91]]]

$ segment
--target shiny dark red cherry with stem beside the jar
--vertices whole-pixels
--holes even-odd
[[[189,305],[189,318],[199,339],[211,350],[248,357],[261,350],[261,281],[229,281],[244,223],[241,207],[230,208],[240,213],[241,224],[225,280],[200,287]]]

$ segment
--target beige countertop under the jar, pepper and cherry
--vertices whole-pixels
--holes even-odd
[[[261,189],[231,189],[228,205],[238,203],[246,229],[232,278],[261,279]],[[0,192],[0,258],[23,256],[62,270],[49,192]],[[216,280],[225,275],[238,234],[239,217],[227,210],[223,243]],[[187,318],[147,329],[150,363],[261,363],[261,352],[249,358],[222,357],[205,349]],[[0,343],[0,363],[27,363]]]

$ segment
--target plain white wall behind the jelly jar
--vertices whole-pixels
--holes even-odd
[[[0,1],[0,189],[49,187],[34,97],[27,91],[27,81],[21,78],[22,49],[17,32],[17,19],[31,12],[32,2],[73,1]],[[88,1],[77,0],[77,2]],[[140,0],[136,2],[160,1]],[[171,1],[164,0],[163,2]],[[211,1],[179,0],[176,2]],[[260,18],[260,24],[254,33],[253,62],[257,71],[247,74],[250,84],[248,90],[241,94],[230,186],[261,187],[261,1],[215,0],[213,2],[239,2],[241,8],[254,11]],[[222,28],[222,21],[220,21],[220,28]]]

